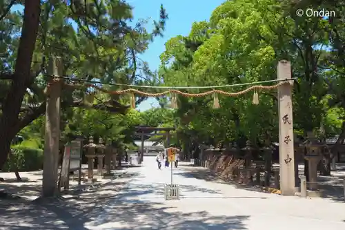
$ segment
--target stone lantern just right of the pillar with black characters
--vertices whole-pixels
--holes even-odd
[[[306,147],[304,159],[308,161],[308,182],[309,190],[317,190],[317,164],[322,160],[322,148],[324,144],[317,140],[312,133],[308,133],[308,140],[303,143]]]

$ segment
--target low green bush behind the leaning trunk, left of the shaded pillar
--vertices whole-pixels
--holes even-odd
[[[12,147],[12,156],[8,156],[8,161],[3,166],[3,172],[10,172],[14,166],[19,171],[35,171],[42,169],[43,151],[38,148],[27,148],[25,146]]]

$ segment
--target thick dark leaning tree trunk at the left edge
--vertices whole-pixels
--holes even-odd
[[[2,169],[8,158],[12,139],[19,132],[21,103],[26,88],[32,82],[31,61],[39,29],[40,13],[41,2],[39,0],[25,1],[23,27],[14,66],[14,75],[10,90],[2,105],[2,116],[0,118],[0,169]]]

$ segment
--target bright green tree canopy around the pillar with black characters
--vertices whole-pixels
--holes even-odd
[[[345,118],[341,77],[345,53],[339,46],[345,41],[344,23],[340,22],[344,15],[328,19],[296,16],[297,8],[335,9],[331,1],[326,2],[226,1],[213,11],[209,22],[195,22],[188,36],[179,35],[166,43],[159,75],[166,86],[257,82],[277,79],[278,61],[288,59],[293,77],[298,78],[293,89],[295,132],[305,135],[322,124],[326,135],[335,135],[342,131]],[[342,3],[335,5],[343,7]],[[213,110],[211,98],[179,98],[174,115],[184,137],[182,145],[190,140],[209,144],[243,144],[244,139],[258,145],[266,140],[278,142],[275,91],[259,92],[257,106],[251,104],[251,93],[219,96],[219,100],[221,108]]]

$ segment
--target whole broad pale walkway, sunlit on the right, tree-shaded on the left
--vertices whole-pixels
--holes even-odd
[[[59,202],[1,202],[0,230],[344,230],[345,203],[237,189],[173,169],[181,200],[164,200],[170,169],[155,157],[79,197]]]

